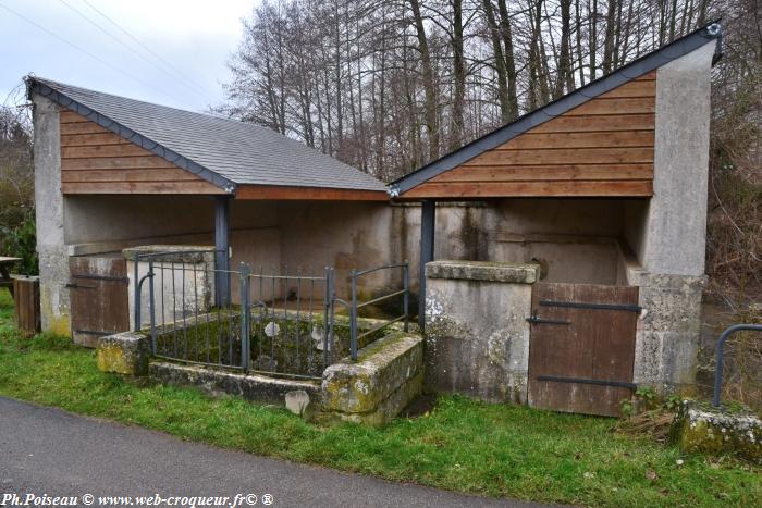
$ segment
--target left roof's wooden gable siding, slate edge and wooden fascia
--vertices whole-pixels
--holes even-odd
[[[74,195],[201,195],[236,200],[388,201],[384,190],[233,182],[44,83],[59,104],[61,191]]]

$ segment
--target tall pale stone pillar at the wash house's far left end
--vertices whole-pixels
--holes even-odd
[[[64,244],[59,107],[35,95],[35,218],[42,330],[71,335],[69,255]]]

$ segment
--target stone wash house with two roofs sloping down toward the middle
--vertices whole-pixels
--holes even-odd
[[[42,326],[127,330],[137,246],[331,265],[337,294],[408,260],[429,389],[595,414],[690,391],[720,53],[712,24],[389,186],[263,127],[30,76]],[[88,276],[118,283],[95,318],[72,303]]]

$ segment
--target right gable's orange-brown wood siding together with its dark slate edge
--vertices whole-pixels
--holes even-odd
[[[648,198],[656,69],[718,37],[711,23],[393,182],[389,193],[402,201]]]

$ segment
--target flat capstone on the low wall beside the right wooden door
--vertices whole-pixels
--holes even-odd
[[[499,263],[492,261],[431,261],[426,263],[429,278],[533,284],[540,265],[534,263]]]

